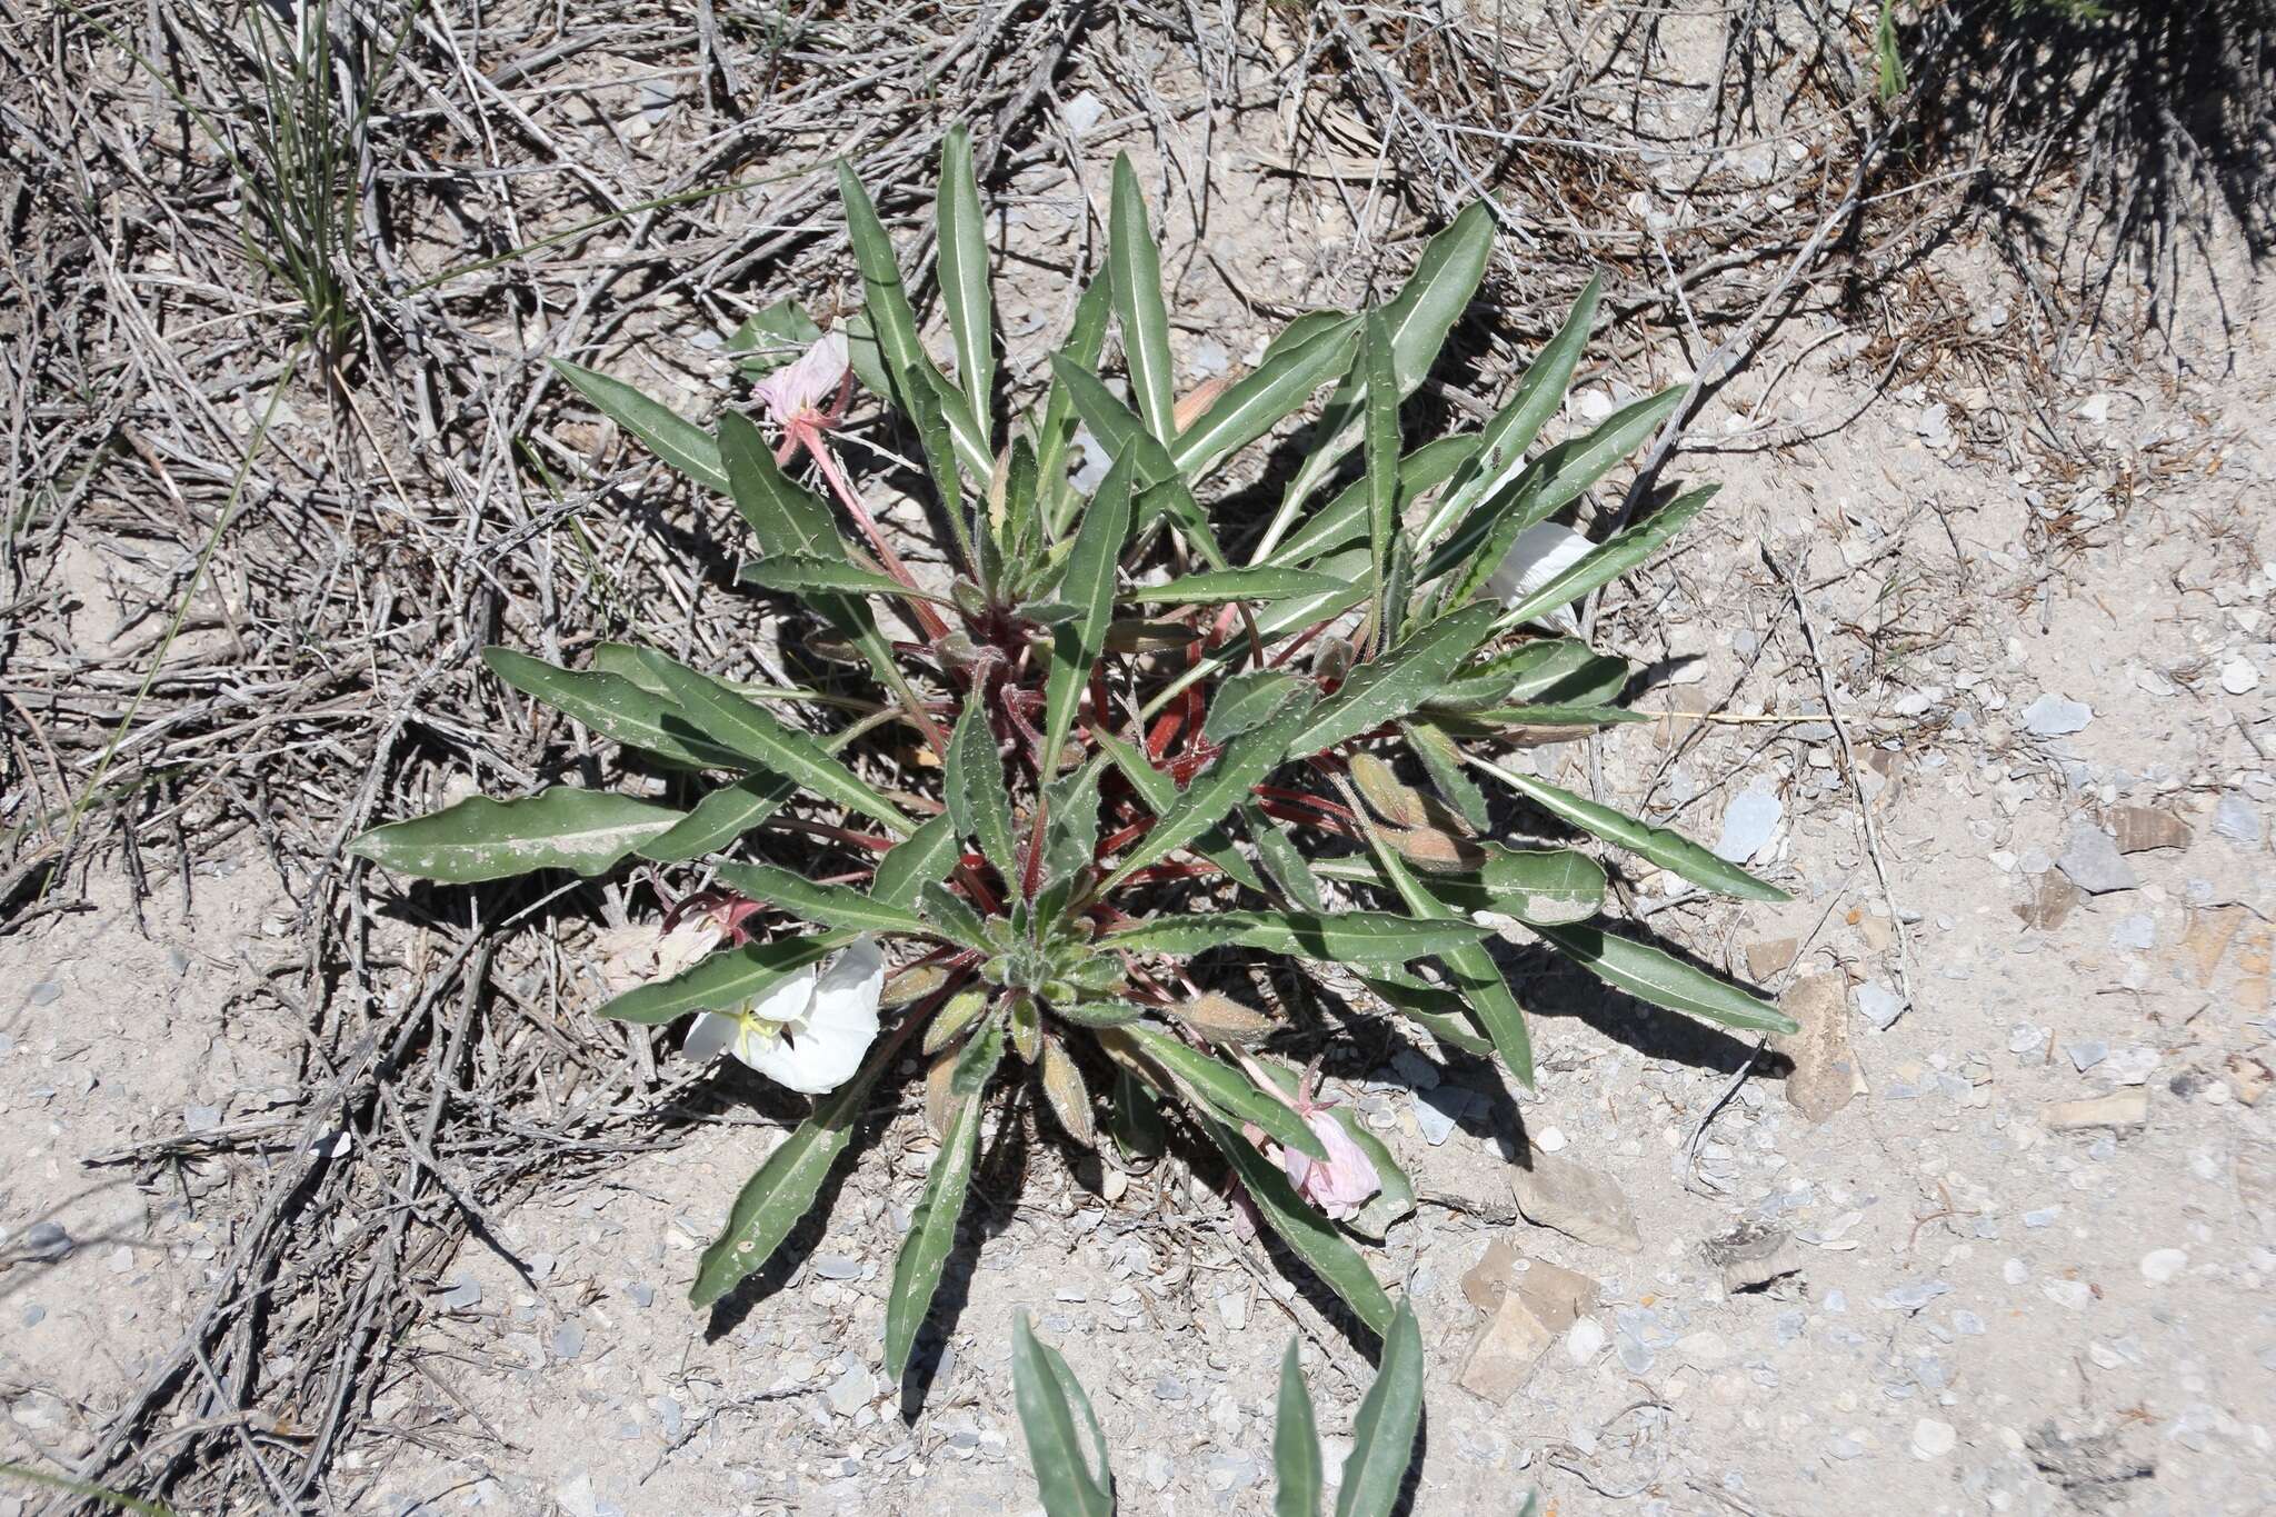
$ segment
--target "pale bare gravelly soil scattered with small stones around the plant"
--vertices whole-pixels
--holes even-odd
[[[1026,234],[1074,237],[1072,193],[1038,173]],[[1211,252],[1295,277],[1263,239]],[[1181,266],[1197,380],[1272,323]],[[1935,273],[1996,346],[2023,291],[1989,250]],[[1664,716],[1516,762],[1784,885],[1732,905],[1646,871],[1627,898],[1805,1030],[1757,1048],[1520,944],[1539,1089],[1422,1033],[1331,1058],[1422,1192],[1370,1255],[1429,1351],[1411,1510],[2276,1508],[2276,337],[2265,282],[2228,275],[2233,346],[2192,312],[2187,368],[2112,341],[1878,389],[1873,318],[1816,316],[1691,423],[1671,473],[1723,494],[1598,621],[1657,662]],[[1666,371],[1607,362],[1573,414]],[[121,869],[86,896],[0,937],[0,1456],[25,1462],[84,1453],[175,1351],[312,1110],[296,1030],[246,1014],[298,953],[250,835],[139,905]],[[601,998],[567,985],[571,1017]],[[1184,1164],[1070,1162],[1033,1124],[986,1137],[908,1385],[881,1324],[931,1158],[913,1099],[772,1294],[690,1312],[783,1126],[735,1078],[676,1092],[683,1119],[483,1210],[417,1280],[337,1510],[1036,1510],[1020,1310],[1090,1387],[1127,1512],[1270,1510],[1290,1337],[1347,1451],[1370,1369],[1302,1274]],[[366,1137],[316,1142],[355,1164]],[[0,1485],[0,1515],[41,1501]]]

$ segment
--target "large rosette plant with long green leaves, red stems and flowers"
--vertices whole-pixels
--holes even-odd
[[[696,1267],[706,1305],[813,1208],[879,1085],[922,1069],[938,1153],[892,1274],[888,1365],[929,1310],[999,1096],[1031,1080],[1063,1135],[1124,1155],[1174,1126],[1377,1335],[1393,1305],[1354,1237],[1413,1185],[1284,1023],[1222,985],[1288,962],[1532,1085],[1525,1010],[1486,948],[1525,930],[1607,985],[1748,1030],[1746,989],[1598,921],[1602,867],[1491,835],[1482,780],[1693,885],[1778,889],[1705,848],[1509,764],[1514,746],[1634,721],[1630,664],[1559,623],[1655,555],[1712,489],[1591,544],[1552,516],[1673,412],[1673,391],[1536,448],[1595,316],[1591,284],[1475,432],[1416,441],[1420,384],[1486,271],[1470,207],[1400,293],[1306,314],[1229,384],[1181,391],[1138,177],[1115,164],[1106,271],[1074,305],[1036,405],[1004,416],[972,150],[951,132],[938,280],[951,364],[920,341],[867,193],[840,168],[865,302],[833,332],[776,305],[737,334],[753,414],[712,428],[599,373],[560,373],[751,528],[742,580],[803,605],[785,650],[865,666],[874,701],[751,685],[603,644],[583,669],[512,648],[503,682],[676,776],[649,796],[553,787],[376,828],[387,869],[476,882],[685,876],[653,976],[603,1017],[687,1019],[683,1048],[817,1096]],[[1102,378],[1120,337],[1129,400]],[[920,580],[833,434],[856,378],[922,446],[951,573]],[[1213,509],[1220,471],[1325,405],[1261,532]],[[1079,432],[1111,464],[1077,484]],[[1227,539],[1245,539],[1236,559]],[[1559,632],[1557,628],[1566,630]],[[915,757],[910,757],[915,753]],[[792,842],[794,848],[783,848]],[[797,860],[797,869],[765,862]],[[1209,955],[1206,967],[1197,964]],[[1286,983],[1286,980],[1284,980]]]

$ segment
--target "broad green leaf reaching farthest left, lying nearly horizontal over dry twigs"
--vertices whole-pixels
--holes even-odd
[[[653,801],[555,785],[521,801],[469,796],[412,821],[389,821],[348,844],[348,853],[446,885],[533,869],[596,876],[678,821],[678,812]]]

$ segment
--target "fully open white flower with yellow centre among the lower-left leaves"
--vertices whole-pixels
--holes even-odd
[[[883,989],[885,955],[865,932],[828,969],[808,964],[740,1012],[699,1014],[681,1051],[696,1062],[733,1053],[776,1085],[819,1096],[860,1069]]]

